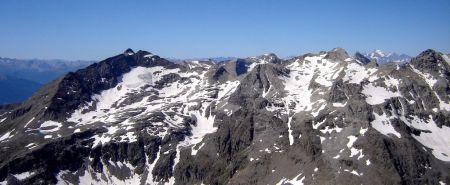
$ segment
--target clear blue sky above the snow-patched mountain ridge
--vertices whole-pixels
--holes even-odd
[[[4,0],[0,25],[0,56],[13,58],[450,53],[450,0]]]

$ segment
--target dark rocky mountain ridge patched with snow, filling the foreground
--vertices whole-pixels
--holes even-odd
[[[448,184],[448,57],[362,60],[126,50],[0,108],[0,183]]]

